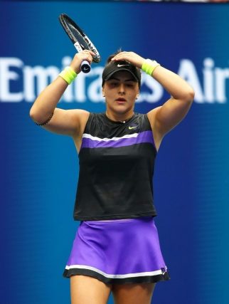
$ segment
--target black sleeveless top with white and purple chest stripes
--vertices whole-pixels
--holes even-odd
[[[156,216],[152,178],[156,148],[146,114],[114,122],[90,113],[79,152],[74,219]]]

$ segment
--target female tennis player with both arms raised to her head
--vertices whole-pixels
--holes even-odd
[[[179,75],[133,52],[110,56],[102,73],[105,112],[56,108],[66,88],[92,63],[77,53],[38,96],[31,118],[70,135],[80,161],[74,218],[80,221],[64,276],[72,304],[149,304],[158,281],[169,280],[154,224],[152,177],[164,135],[186,116],[193,89]],[[141,69],[171,95],[147,114],[134,112]],[[79,76],[80,77],[80,76]]]

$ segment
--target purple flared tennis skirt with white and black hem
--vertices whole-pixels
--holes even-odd
[[[82,221],[63,276],[107,283],[169,280],[153,217]]]

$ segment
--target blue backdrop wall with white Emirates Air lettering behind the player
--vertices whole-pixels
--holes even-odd
[[[0,1],[0,302],[70,303],[62,273],[78,227],[78,157],[70,138],[28,117],[39,90],[33,68],[53,66],[55,75],[75,53],[58,23],[63,12],[85,29],[102,61],[85,82],[78,77],[60,108],[104,110],[96,83],[119,47],[155,58],[193,85],[193,107],[166,135],[156,162],[156,224],[171,281],[157,284],[154,303],[227,304],[229,6],[116,1]],[[139,112],[168,98],[147,81]]]

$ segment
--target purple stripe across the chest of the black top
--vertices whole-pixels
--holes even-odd
[[[81,148],[117,148],[117,147],[126,147],[131,145],[137,145],[142,143],[150,143],[154,145],[154,137],[150,131],[139,132],[137,137],[123,138],[120,137],[119,140],[92,140],[90,138],[83,137]]]

